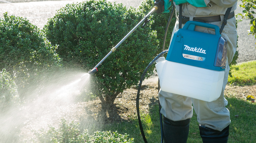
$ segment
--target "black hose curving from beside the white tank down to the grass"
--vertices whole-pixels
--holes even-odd
[[[165,54],[166,52],[168,52],[168,50],[165,50],[163,52],[161,52],[158,56],[156,56],[149,64],[148,66],[146,67],[146,69],[143,71],[142,75],[141,75],[141,78],[140,78],[140,81],[139,81],[139,87],[138,87],[138,92],[137,92],[137,98],[136,98],[136,109],[137,109],[137,115],[138,115],[138,120],[139,120],[139,128],[140,128],[140,132],[141,132],[141,135],[143,137],[143,140],[145,143],[147,143],[147,139],[145,137],[145,134],[144,134],[144,131],[143,131],[143,127],[142,127],[142,123],[141,123],[141,119],[140,119],[140,115],[139,115],[139,93],[140,93],[140,88],[141,88],[141,85],[142,85],[142,81],[144,80],[144,77],[148,71],[148,69],[154,64],[154,62],[159,59],[160,57],[163,56],[163,54]]]

